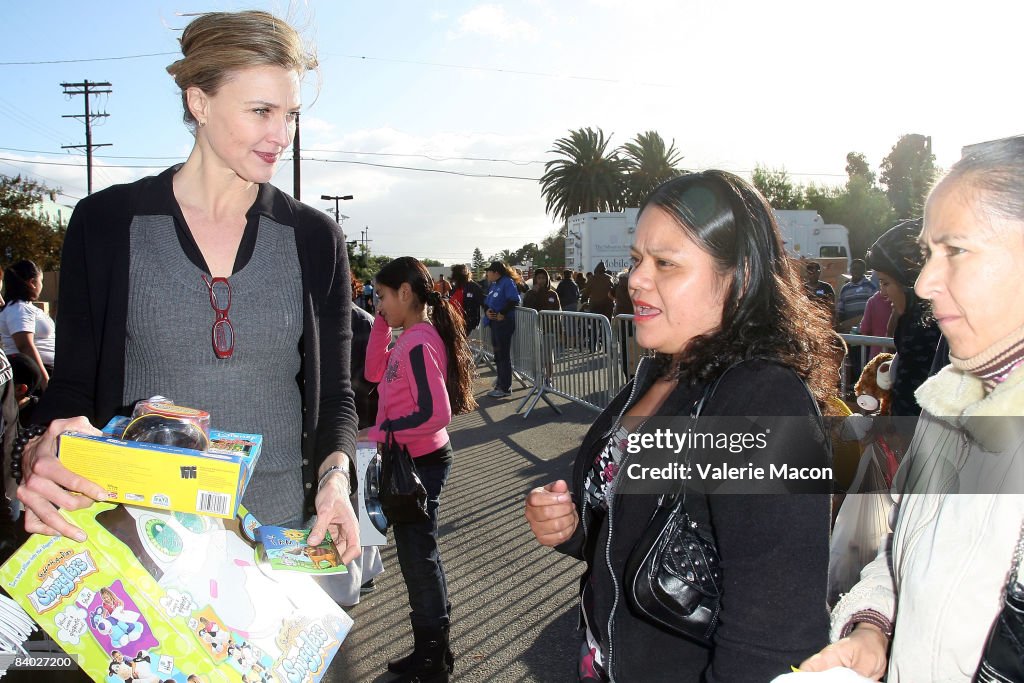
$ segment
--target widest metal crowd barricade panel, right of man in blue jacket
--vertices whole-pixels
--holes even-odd
[[[540,328],[535,336],[535,367],[539,380],[519,407],[522,410],[529,403],[523,417],[529,417],[542,398],[555,408],[550,394],[593,411],[603,410],[621,386],[615,377],[615,343],[608,318],[600,313],[545,310],[537,321]],[[516,335],[519,332],[517,318]]]

